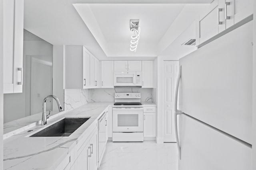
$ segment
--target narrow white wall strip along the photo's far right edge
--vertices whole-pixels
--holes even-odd
[[[253,41],[254,41],[254,46],[253,46],[253,82],[252,82],[252,169],[256,169],[256,1],[254,0],[254,25],[253,25]]]

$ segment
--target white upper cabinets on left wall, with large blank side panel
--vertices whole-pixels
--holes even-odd
[[[99,61],[82,45],[66,45],[64,56],[64,88],[96,88]]]

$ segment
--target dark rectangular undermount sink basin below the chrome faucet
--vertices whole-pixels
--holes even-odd
[[[67,137],[89,118],[64,118],[30,137]]]

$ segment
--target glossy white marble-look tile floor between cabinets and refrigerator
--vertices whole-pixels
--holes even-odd
[[[108,142],[98,170],[178,170],[176,143]]]

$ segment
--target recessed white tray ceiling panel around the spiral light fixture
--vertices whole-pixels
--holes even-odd
[[[158,43],[185,4],[74,4],[108,57],[158,55]],[[140,39],[130,51],[130,19],[139,19]],[[118,50],[117,50],[118,48]]]

